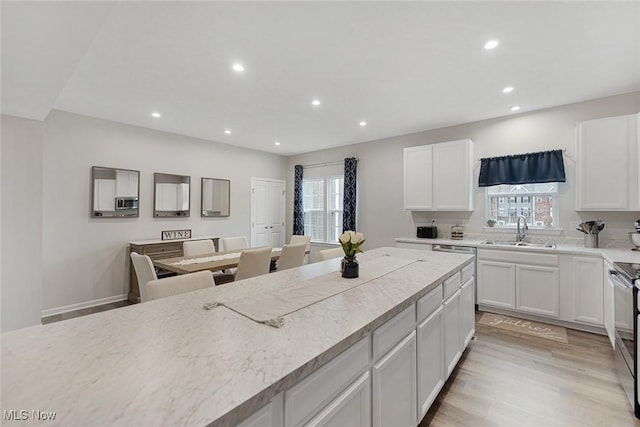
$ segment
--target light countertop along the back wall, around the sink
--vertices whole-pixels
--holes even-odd
[[[587,255],[602,256],[609,262],[637,262],[640,263],[640,252],[632,251],[629,248],[585,248],[580,245],[557,244],[556,248],[532,247],[532,246],[502,246],[484,244],[484,240],[478,239],[422,239],[418,237],[398,237],[396,242],[403,243],[420,243],[423,245],[456,245],[456,246],[473,246],[482,249],[495,249],[506,251],[520,252],[543,252],[543,253],[560,253],[568,255]],[[505,239],[506,240],[506,239]]]

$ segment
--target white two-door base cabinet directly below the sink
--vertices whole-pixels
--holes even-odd
[[[478,304],[560,317],[557,255],[478,250]]]

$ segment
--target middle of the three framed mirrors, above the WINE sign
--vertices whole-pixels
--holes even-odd
[[[153,188],[154,217],[190,216],[191,177],[154,173]]]

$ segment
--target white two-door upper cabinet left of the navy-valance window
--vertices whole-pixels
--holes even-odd
[[[404,208],[473,210],[473,142],[469,139],[404,149]]]

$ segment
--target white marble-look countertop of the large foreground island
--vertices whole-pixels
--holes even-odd
[[[1,409],[56,413],[34,425],[235,425],[472,259],[378,248],[358,255],[361,272],[381,256],[422,262],[287,315],[282,328],[202,305],[329,273],[347,280],[339,259],[5,333]]]

